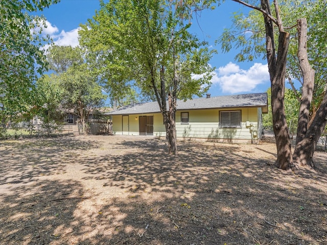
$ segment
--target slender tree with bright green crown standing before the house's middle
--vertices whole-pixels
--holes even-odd
[[[177,98],[205,93],[213,70],[207,44],[188,32],[192,7],[199,8],[199,2],[190,6],[177,0],[102,2],[94,19],[79,32],[111,93],[120,96],[134,85],[158,102],[169,153],[175,155]]]

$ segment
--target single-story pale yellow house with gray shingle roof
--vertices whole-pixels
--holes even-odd
[[[177,101],[177,138],[226,142],[258,142],[262,114],[268,113],[267,93],[206,97]],[[164,119],[157,102],[134,103],[106,113],[114,135],[165,137]]]

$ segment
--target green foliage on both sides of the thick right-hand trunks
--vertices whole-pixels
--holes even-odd
[[[283,23],[290,32],[290,45],[288,48],[287,73],[288,76],[302,85],[302,73],[299,68],[297,58],[297,30],[296,20],[299,18],[307,18],[308,20],[308,57],[312,68],[316,71],[314,101],[313,107],[318,108],[327,80],[327,48],[326,48],[326,28],[327,20],[327,2],[324,0],[315,1],[278,1],[279,11]],[[274,7],[272,15],[274,15]],[[237,61],[252,61],[253,58],[266,58],[265,47],[265,27],[262,21],[262,13],[256,10],[249,12],[248,16],[242,13],[233,15],[233,24],[230,29],[226,29],[217,42],[221,43],[223,52],[228,52],[232,47],[241,48],[235,59]],[[277,45],[277,27],[275,36],[275,45]],[[277,46],[276,46],[277,48]],[[317,52],[319,51],[319,52]],[[297,97],[300,98],[300,93]]]

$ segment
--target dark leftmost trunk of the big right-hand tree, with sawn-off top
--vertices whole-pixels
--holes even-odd
[[[270,15],[269,0],[261,0],[261,7]],[[291,140],[287,128],[284,105],[289,33],[283,31],[282,22],[278,19],[279,38],[276,58],[273,31],[274,23],[265,14],[264,21],[266,28],[267,61],[271,83],[272,121],[277,147],[277,165],[279,168],[286,170],[293,166]]]

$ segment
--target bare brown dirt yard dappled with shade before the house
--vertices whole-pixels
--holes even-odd
[[[327,153],[75,136],[0,141],[0,244],[327,244]]]

